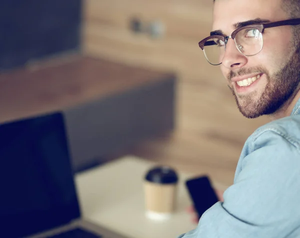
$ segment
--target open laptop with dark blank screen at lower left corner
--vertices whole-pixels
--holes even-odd
[[[60,112],[0,125],[0,237],[126,238],[80,217]]]

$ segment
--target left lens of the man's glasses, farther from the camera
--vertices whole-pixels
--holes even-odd
[[[211,38],[205,41],[203,51],[207,61],[213,65],[221,63],[221,55],[224,53],[224,41]]]

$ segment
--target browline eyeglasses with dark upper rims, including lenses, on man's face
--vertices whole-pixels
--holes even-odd
[[[245,56],[252,56],[262,49],[262,32],[265,28],[298,24],[300,24],[300,18],[242,26],[235,29],[229,36],[210,35],[199,42],[199,47],[203,50],[204,56],[210,64],[219,65],[222,63],[229,38],[234,40],[240,53]]]

